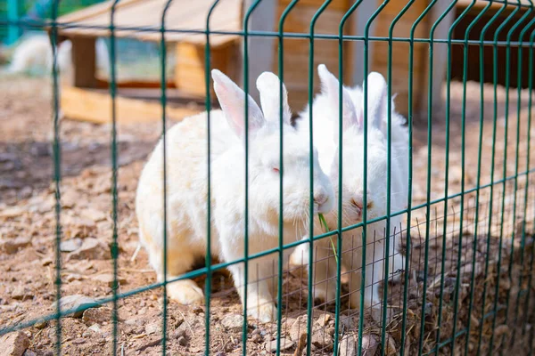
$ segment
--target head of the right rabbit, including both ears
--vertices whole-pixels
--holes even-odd
[[[339,146],[340,82],[325,65],[318,67],[322,83],[325,112],[330,112],[333,124],[333,139]],[[387,197],[387,146],[383,133],[383,117],[387,109],[387,86],[382,75],[371,73],[367,78],[367,142],[364,137],[364,102],[351,98],[350,90],[342,86],[342,206],[344,220],[355,223],[361,219],[364,201],[364,153],[367,148],[367,192],[366,206],[368,219],[386,214]],[[358,105],[355,105],[355,104]],[[317,101],[314,105],[317,105]],[[333,156],[331,179],[338,185],[339,149]],[[392,174],[396,174],[392,172]],[[340,192],[339,192],[340,194]]]

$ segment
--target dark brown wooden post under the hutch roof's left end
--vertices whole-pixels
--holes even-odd
[[[95,37],[72,38],[72,85],[78,88],[95,88],[96,57]]]

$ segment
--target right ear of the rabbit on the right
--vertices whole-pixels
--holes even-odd
[[[363,109],[364,109],[364,86],[366,84],[363,83],[363,94],[362,94],[362,101],[363,101]],[[383,124],[383,119],[386,117],[386,109],[387,109],[387,102],[386,102],[386,81],[384,80],[384,77],[377,72],[372,72],[367,77],[367,85],[368,85],[368,106],[367,106],[367,117],[369,122],[371,122],[372,125],[376,128],[381,128]]]

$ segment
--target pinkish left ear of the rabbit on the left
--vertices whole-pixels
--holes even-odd
[[[232,127],[235,134],[243,137],[245,134],[245,93],[218,69],[212,69],[211,74],[214,80],[214,91],[228,125]],[[248,95],[248,99],[249,132],[251,133],[262,127],[266,120],[251,95]]]

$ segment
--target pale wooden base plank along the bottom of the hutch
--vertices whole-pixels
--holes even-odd
[[[107,93],[64,85],[61,91],[61,108],[66,117],[103,124],[111,122],[111,97]],[[123,97],[116,98],[118,123],[161,121],[162,108],[159,102],[141,101]],[[166,108],[167,117],[181,120],[201,112],[188,107]]]

